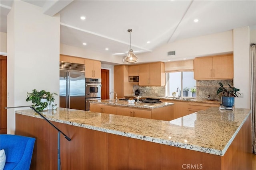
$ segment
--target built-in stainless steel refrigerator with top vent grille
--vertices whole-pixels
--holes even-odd
[[[60,107],[85,110],[85,65],[60,62]]]

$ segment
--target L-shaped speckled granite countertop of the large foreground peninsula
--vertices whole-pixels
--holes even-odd
[[[220,111],[219,107],[211,107],[172,121],[65,108],[42,113],[50,121],[222,156],[250,112],[250,109]],[[41,118],[32,109],[16,113]]]

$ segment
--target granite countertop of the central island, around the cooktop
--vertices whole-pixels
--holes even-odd
[[[126,100],[91,100],[90,103],[94,104],[107,104],[107,105],[114,105],[114,106],[125,106],[125,107],[136,107],[136,108],[144,108],[144,109],[156,109],[160,107],[172,106],[174,103],[169,102],[162,102],[160,104],[148,104],[143,102],[134,102],[132,104],[128,103]]]

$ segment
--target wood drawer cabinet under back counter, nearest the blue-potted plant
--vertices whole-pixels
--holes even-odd
[[[219,107],[219,106],[220,106],[220,104],[189,102],[188,103],[188,114],[195,113],[200,110],[206,110],[210,107]]]

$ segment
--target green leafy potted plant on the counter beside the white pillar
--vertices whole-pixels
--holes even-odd
[[[26,101],[31,101],[33,103],[32,107],[37,111],[47,111],[48,105],[54,103],[54,94],[58,95],[46,92],[45,90],[38,92],[36,89],[33,89],[31,93],[27,93]]]

